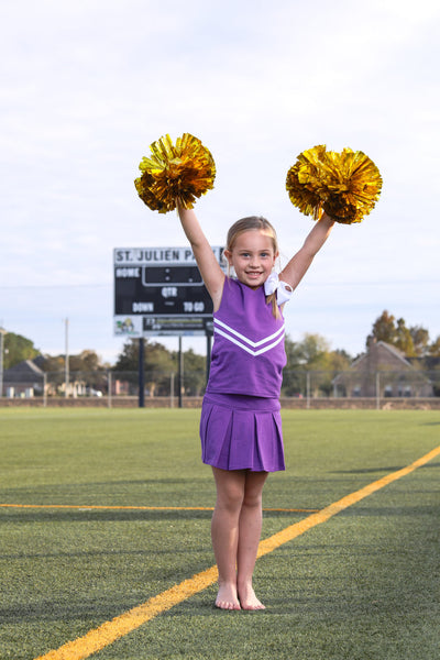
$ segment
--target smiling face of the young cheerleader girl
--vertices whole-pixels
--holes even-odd
[[[253,289],[265,283],[278,256],[272,237],[256,229],[239,234],[224,255],[239,280]]]

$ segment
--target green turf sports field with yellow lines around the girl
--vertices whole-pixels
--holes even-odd
[[[54,649],[70,660],[63,646],[95,630],[100,659],[437,660],[439,413],[283,413],[287,471],[265,488],[261,613],[213,607],[198,415],[0,411],[0,504],[16,505],[0,507],[0,659]],[[145,618],[148,601],[166,606]],[[142,607],[147,623],[103,637],[106,622]],[[92,652],[79,648],[75,658]]]

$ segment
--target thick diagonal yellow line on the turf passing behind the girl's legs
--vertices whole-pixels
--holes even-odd
[[[333,502],[333,504],[330,504],[330,506],[327,506],[317,514],[308,516],[305,520],[296,522],[295,525],[290,525],[289,527],[286,527],[286,529],[274,534],[268,539],[261,541],[258,547],[258,557],[263,557],[264,554],[276,550],[284,543],[295,539],[308,529],[311,529],[321,522],[326,522],[332,516],[336,516],[343,509],[356,504],[364,497],[372,495],[372,493],[380,491],[392,482],[402,479],[417,468],[425,465],[439,454],[440,446],[407,468],[392,472],[378,481],[372,482],[367,486],[364,486],[360,491],[355,491],[354,493],[342,497],[338,502]],[[40,656],[35,660],[84,660],[92,653],[96,653],[97,651],[109,646],[120,637],[123,637],[135,628],[139,628],[158,614],[170,609],[186,598],[189,598],[190,596],[204,591],[213,582],[216,582],[217,579],[217,566],[211,566],[210,569],[207,569],[201,573],[197,573],[197,575],[194,575],[188,580],[184,580],[184,582],[180,582],[180,584],[172,586],[162,594],[150,598],[146,601],[146,603],[143,603],[138,607],[133,607],[129,612],[117,616],[110,622],[106,622],[98,628],[87,632],[87,635],[84,637],[78,637],[74,641],[69,641],[58,649],[50,651],[44,656]]]

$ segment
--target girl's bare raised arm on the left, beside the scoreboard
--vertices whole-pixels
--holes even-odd
[[[213,310],[217,311],[223,293],[224,273],[220,268],[216,255],[212,252],[212,248],[208,243],[194,210],[185,209],[179,202],[177,202],[177,210],[182,227],[184,228],[186,238],[193,249],[200,275],[212,298]]]

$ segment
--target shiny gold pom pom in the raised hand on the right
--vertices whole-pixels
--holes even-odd
[[[318,220],[326,211],[337,222],[352,224],[374,208],[382,177],[363,152],[328,152],[321,144],[299,154],[287,173],[286,189],[306,216]]]

